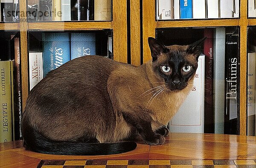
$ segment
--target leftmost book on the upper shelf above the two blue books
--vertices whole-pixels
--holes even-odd
[[[38,0],[28,0],[28,11],[27,11],[27,18],[28,21],[38,21],[39,14],[38,14]]]

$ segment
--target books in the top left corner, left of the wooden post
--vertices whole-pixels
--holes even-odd
[[[19,21],[19,0],[0,0],[0,21],[18,22]]]

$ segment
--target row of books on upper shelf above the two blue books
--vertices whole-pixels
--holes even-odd
[[[28,0],[28,20],[111,20],[111,2],[111,0]]]

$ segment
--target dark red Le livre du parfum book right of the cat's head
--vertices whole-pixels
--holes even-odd
[[[204,133],[214,133],[213,123],[213,29],[204,29],[205,91],[204,91]]]

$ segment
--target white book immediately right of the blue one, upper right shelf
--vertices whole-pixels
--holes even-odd
[[[193,0],[193,18],[203,19],[205,18],[205,0]]]

